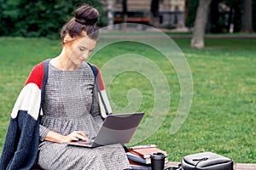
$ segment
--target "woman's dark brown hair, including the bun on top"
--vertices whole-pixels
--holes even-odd
[[[61,42],[64,41],[67,34],[72,38],[80,37],[83,35],[83,31],[91,39],[97,40],[99,31],[96,22],[99,20],[99,15],[97,9],[89,5],[83,5],[76,9],[75,16],[61,29]]]

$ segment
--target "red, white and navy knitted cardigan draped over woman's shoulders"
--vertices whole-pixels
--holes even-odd
[[[39,120],[43,116],[41,105],[48,78],[49,59],[36,65],[22,88],[11,113],[9,128],[0,158],[0,169],[30,169],[38,156]],[[90,65],[96,77],[101,115],[111,114],[111,107],[102,82],[101,72]]]

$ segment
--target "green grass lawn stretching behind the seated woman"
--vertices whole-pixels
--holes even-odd
[[[108,40],[103,39],[99,44],[104,41]],[[170,161],[181,161],[185,155],[207,150],[228,156],[235,162],[255,162],[256,39],[207,39],[207,48],[201,50],[189,48],[189,39],[174,41],[186,56],[194,86],[189,116],[174,134],[170,134],[170,127],[180,98],[179,80],[172,65],[159,51],[137,42],[117,42],[102,48],[90,59],[102,68],[117,56],[137,54],[163,71],[171,95],[168,114],[160,128],[138,144],[157,144],[167,151]],[[0,37],[0,151],[10,112],[32,66],[60,52],[61,44],[56,40]],[[128,63],[124,61],[119,65]],[[117,75],[111,84],[106,84],[110,86],[113,111],[123,111],[120,108],[130,105],[132,98],[129,100],[127,93],[136,88],[134,93],[140,91],[142,96],[137,110],[146,112],[145,122],[154,107],[151,83],[148,77],[136,71]]]

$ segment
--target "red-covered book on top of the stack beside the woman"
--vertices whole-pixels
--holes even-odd
[[[159,148],[156,147],[151,147],[151,148],[137,148],[137,149],[131,149],[129,148],[129,152],[136,154],[137,156],[141,156],[143,158],[148,158],[150,157],[151,154],[161,152],[165,155],[167,155],[166,151],[160,150]]]

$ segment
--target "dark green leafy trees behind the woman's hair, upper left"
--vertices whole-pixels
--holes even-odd
[[[107,23],[100,0],[87,0],[102,15],[99,26]],[[9,0],[0,1],[0,36],[59,37],[61,27],[73,17],[79,0]]]

